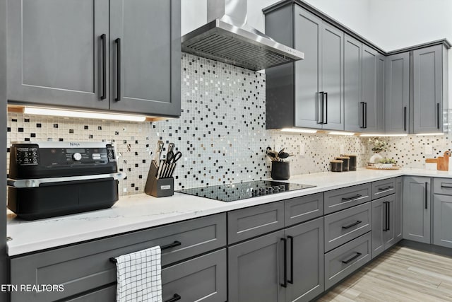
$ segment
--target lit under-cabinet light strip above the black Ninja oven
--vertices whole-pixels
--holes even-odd
[[[143,115],[120,115],[117,113],[49,109],[49,108],[39,108],[39,107],[25,107],[25,108],[23,108],[23,113],[25,115],[50,115],[50,116],[54,116],[54,117],[82,117],[85,119],[118,120],[118,121],[129,121],[129,122],[144,122],[146,120],[146,117]]]

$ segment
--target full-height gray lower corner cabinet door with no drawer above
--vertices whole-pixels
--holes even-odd
[[[430,178],[405,177],[403,238],[430,243]]]

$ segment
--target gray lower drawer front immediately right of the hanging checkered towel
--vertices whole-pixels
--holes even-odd
[[[186,302],[226,301],[226,261],[226,249],[222,249],[162,269],[162,301],[175,294]]]

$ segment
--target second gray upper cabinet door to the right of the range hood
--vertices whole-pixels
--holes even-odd
[[[323,129],[344,129],[343,98],[344,33],[327,23],[321,27],[321,91],[323,91]]]

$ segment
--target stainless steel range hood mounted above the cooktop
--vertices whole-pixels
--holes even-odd
[[[246,24],[246,0],[207,0],[206,25],[182,37],[182,51],[251,70],[304,59]]]

